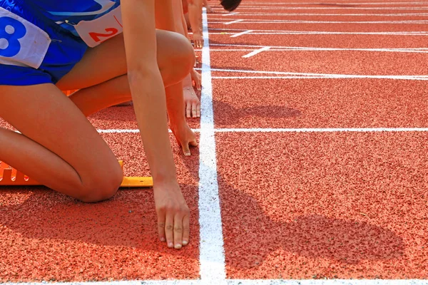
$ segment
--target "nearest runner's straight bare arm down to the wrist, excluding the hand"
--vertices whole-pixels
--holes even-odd
[[[176,181],[176,173],[168,134],[165,88],[156,61],[156,4],[153,0],[121,3],[128,81],[138,128],[153,182],[161,184]]]

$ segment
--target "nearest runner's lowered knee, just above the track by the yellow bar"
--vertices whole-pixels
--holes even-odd
[[[118,191],[122,180],[123,172],[120,165],[103,167],[94,172],[89,181],[83,185],[78,199],[87,203],[110,199]]]

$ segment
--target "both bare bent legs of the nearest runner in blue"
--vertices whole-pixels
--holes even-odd
[[[186,41],[158,31],[158,64],[167,86],[180,82],[193,66],[188,59],[193,51]],[[175,48],[171,51],[168,46]],[[178,63],[182,68],[172,68]],[[84,202],[108,199],[123,174],[86,115],[130,98],[121,37],[88,51],[58,87],[0,86],[0,117],[20,132],[0,128],[0,160]],[[68,98],[60,88],[81,90]]]

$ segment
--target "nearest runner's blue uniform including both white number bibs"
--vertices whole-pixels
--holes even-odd
[[[120,0],[0,0],[0,85],[57,83],[121,27]]]

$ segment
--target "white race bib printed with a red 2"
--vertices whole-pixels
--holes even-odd
[[[76,31],[82,40],[91,48],[103,41],[122,33],[121,6],[92,21],[80,21]]]

